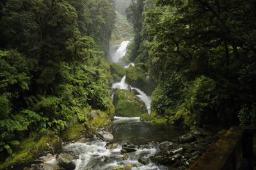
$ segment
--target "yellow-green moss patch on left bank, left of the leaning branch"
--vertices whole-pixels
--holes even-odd
[[[83,137],[85,134],[84,132],[84,124],[77,123],[73,127],[69,127],[64,130],[61,134],[61,138],[65,142],[76,141],[77,139]]]

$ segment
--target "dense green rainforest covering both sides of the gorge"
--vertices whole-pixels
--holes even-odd
[[[125,76],[130,91],[115,93],[139,101],[141,121],[256,125],[255,16],[253,0],[0,1],[0,169],[111,124],[111,84]],[[109,65],[124,40],[132,66]],[[150,114],[131,86],[151,95]]]

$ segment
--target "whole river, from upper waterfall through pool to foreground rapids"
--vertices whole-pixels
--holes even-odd
[[[119,59],[127,52],[127,45],[129,41],[120,43],[119,48],[111,59],[118,63]],[[134,63],[124,66],[125,68],[134,66]],[[125,82],[125,75],[120,82],[116,82],[112,86],[113,89],[129,89],[133,88]],[[150,114],[151,98],[148,97],[143,91],[135,88]],[[72,143],[63,147],[63,151],[79,155],[74,160],[76,163],[76,170],[82,169],[115,169],[117,167],[125,167],[132,165],[132,169],[150,170],[150,169],[167,169],[164,166],[157,166],[152,162],[141,164],[139,158],[148,158],[159,151],[159,143],[163,141],[170,141],[174,137],[188,132],[187,129],[175,127],[168,124],[157,124],[141,122],[139,117],[126,118],[115,116],[112,122],[112,133],[114,136],[113,141],[105,142],[100,140],[93,140],[87,143]],[[127,160],[123,159],[121,153],[124,144],[133,144],[136,146],[135,150],[130,154]],[[56,160],[51,160],[49,163],[56,163]]]

